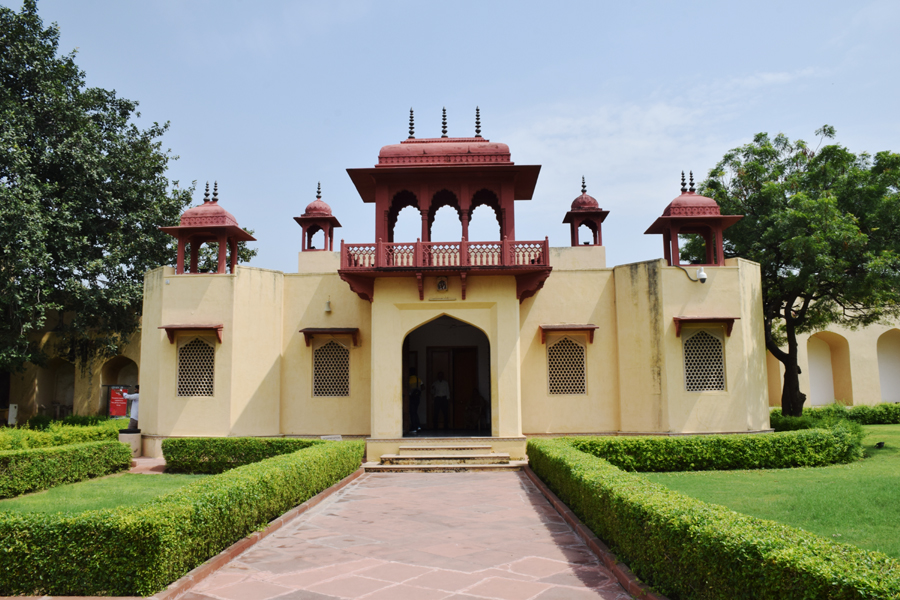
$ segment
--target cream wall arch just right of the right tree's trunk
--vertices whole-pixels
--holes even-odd
[[[806,343],[809,359],[810,406],[837,402],[853,405],[853,383],[850,374],[850,345],[847,338],[830,331],[809,337]]]

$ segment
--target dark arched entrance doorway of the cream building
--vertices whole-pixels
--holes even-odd
[[[453,317],[411,331],[403,341],[404,437],[490,436],[490,357],[484,332]]]

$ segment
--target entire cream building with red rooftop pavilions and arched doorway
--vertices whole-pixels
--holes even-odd
[[[683,189],[648,230],[664,236],[665,258],[607,267],[609,211],[584,180],[563,220],[568,245],[518,240],[515,203],[533,198],[540,166],[482,137],[477,113],[473,137],[449,137],[445,116],[441,137],[418,139],[410,119],[375,166],[347,170],[375,204],[372,242],[331,251],[341,215],[319,191],[295,217],[296,273],[227,273],[224,259],[212,274],[183,260],[147,273],[145,454],[170,436],[339,434],[365,437],[370,460],[473,440],[517,459],[527,435],[768,428],[759,266],[721,251],[740,217]],[[497,238],[469,241],[482,205]],[[459,240],[432,239],[444,206]],[[394,237],[406,207],[421,217],[416,241]],[[170,228],[182,254],[221,239],[188,225]],[[706,279],[679,264],[685,233],[706,242]]]

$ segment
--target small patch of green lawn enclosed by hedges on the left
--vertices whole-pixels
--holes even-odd
[[[0,511],[79,513],[141,504],[207,475],[121,473],[0,500]]]

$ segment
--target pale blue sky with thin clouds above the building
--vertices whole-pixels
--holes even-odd
[[[0,0],[18,10],[18,1]],[[542,165],[517,203],[519,239],[568,245],[580,193],[611,211],[610,265],[662,255],[644,230],[679,193],[760,131],[814,139],[823,124],[855,152],[900,151],[900,3],[368,2],[40,0],[89,85],[169,121],[170,179],[218,180],[223,206],[256,231],[253,265],[296,271],[292,217],[316,182],[347,242],[374,241],[374,209],[346,170],[406,138],[474,129]],[[891,42],[891,39],[894,39]],[[458,239],[448,209],[435,239]],[[482,209],[480,209],[482,210]],[[472,239],[496,225],[476,213]],[[401,214],[398,240],[416,236]]]

